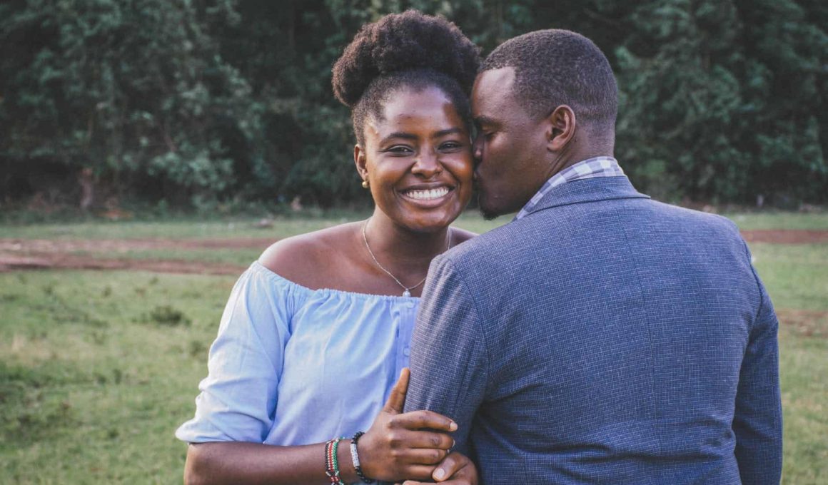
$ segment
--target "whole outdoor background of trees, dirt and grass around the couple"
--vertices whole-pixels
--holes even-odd
[[[181,483],[173,432],[238,275],[371,210],[330,68],[410,7],[484,55],[549,27],[604,50],[633,184],[748,241],[780,320],[782,481],[828,483],[824,0],[2,0],[0,483]]]

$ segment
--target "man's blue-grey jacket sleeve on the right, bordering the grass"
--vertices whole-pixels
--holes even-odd
[[[761,296],[744,353],[733,430],[742,483],[778,484],[782,477],[782,400],[779,391],[779,322],[773,304],[753,276]]]

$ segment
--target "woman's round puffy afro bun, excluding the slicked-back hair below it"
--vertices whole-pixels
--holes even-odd
[[[454,23],[416,10],[364,25],[334,65],[334,94],[349,108],[373,79],[406,70],[434,70],[471,92],[479,48]]]

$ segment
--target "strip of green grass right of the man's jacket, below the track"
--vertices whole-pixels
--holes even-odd
[[[826,483],[828,244],[753,243],[750,248],[780,319],[783,483]],[[809,311],[800,315],[797,310]]]

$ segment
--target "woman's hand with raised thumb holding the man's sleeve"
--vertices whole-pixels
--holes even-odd
[[[457,430],[457,424],[444,415],[402,412],[408,378],[408,369],[402,369],[383,411],[359,439],[360,466],[368,478],[386,482],[401,478],[427,480],[455,443],[448,433]]]

